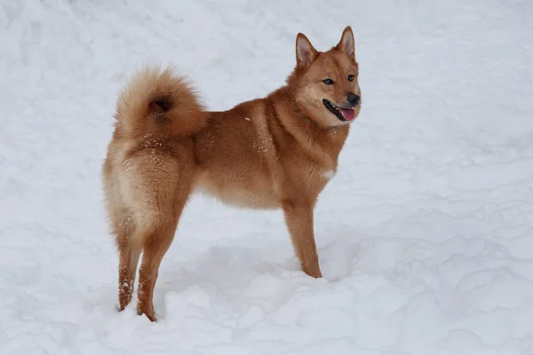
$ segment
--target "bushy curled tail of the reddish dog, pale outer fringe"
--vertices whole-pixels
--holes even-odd
[[[187,79],[159,67],[133,75],[118,99],[115,119],[126,134],[140,137],[186,138],[206,123],[205,109]]]

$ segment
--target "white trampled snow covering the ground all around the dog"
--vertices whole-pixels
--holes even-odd
[[[4,0],[0,352],[533,354],[533,5],[461,3]],[[316,209],[324,278],[281,212],[197,197],[159,322],[116,312],[99,174],[128,75],[174,64],[227,109],[346,25],[364,106]]]

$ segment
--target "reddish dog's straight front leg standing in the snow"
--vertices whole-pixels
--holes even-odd
[[[314,278],[321,278],[316,244],[314,243],[312,203],[285,201],[282,203],[285,222],[302,270]]]

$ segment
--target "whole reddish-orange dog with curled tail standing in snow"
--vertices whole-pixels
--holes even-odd
[[[298,34],[296,59],[285,86],[224,112],[205,110],[169,69],[147,68],[123,90],[103,166],[121,311],[143,251],[137,311],[155,320],[159,266],[196,188],[231,205],[282,209],[302,270],[322,277],[314,205],[361,108],[352,28],[325,52]]]

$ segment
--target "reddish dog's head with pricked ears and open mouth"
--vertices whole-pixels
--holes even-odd
[[[361,89],[352,28],[345,28],[338,44],[325,52],[316,51],[299,33],[296,59],[287,83],[295,92],[298,106],[323,127],[354,122],[361,110]]]

